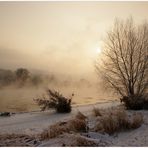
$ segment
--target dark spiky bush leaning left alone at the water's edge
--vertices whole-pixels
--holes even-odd
[[[62,94],[57,91],[47,90],[48,98],[43,96],[42,98],[34,99],[35,102],[40,106],[41,110],[54,108],[58,113],[69,113],[71,112],[71,99],[65,98]]]

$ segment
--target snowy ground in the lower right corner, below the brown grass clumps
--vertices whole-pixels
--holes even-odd
[[[148,147],[148,111],[138,112],[143,114],[144,123],[141,125],[141,127],[137,129],[119,132],[114,135],[101,134],[98,132],[88,132],[81,135],[64,134],[59,136],[58,138],[47,140],[46,142],[43,142],[40,146],[62,146],[63,143],[67,146],[77,146],[76,139],[81,139],[85,137],[83,139],[83,142],[85,142],[86,140],[88,144],[87,146],[96,146],[94,144],[96,143],[97,146],[109,147]],[[92,141],[94,143],[92,143]]]

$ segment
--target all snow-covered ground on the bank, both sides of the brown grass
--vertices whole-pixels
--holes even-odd
[[[73,107],[73,110],[70,114],[57,114],[53,111],[36,111],[28,113],[18,113],[10,117],[0,117],[0,133],[18,133],[28,135],[36,134],[40,133],[49,125],[52,125],[55,122],[65,121],[75,117],[78,111],[81,111],[85,115],[90,115],[93,107],[108,108],[110,106],[116,106],[117,104],[117,102],[113,102],[95,105],[75,106]],[[118,134],[114,134],[112,136],[97,132],[89,132],[87,133],[88,138],[86,137],[86,135],[83,136],[79,134],[66,133],[64,135],[60,135],[57,138],[41,142],[39,146],[64,146],[63,143],[65,145],[72,145],[76,142],[74,139],[79,139],[84,142],[86,140],[86,142],[88,142],[88,145],[90,144],[89,146],[91,146],[93,142],[97,143],[97,146],[148,146],[148,111],[138,112],[141,112],[143,114],[144,123],[141,127],[135,130],[119,132]]]

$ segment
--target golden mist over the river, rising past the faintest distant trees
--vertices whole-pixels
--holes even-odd
[[[0,73],[2,73],[1,70]],[[8,71],[8,70],[7,70]],[[50,75],[34,71],[33,76],[38,76],[41,81],[28,79],[24,84],[13,81],[10,84],[1,85],[0,90],[0,111],[33,111],[39,110],[33,99],[46,95],[46,90],[56,90],[65,97],[72,99],[72,105],[92,104],[96,102],[106,102],[111,99],[108,94],[104,94],[97,82],[91,82],[84,78],[66,77],[65,75]],[[0,75],[2,77],[2,75]],[[0,81],[2,84],[2,81]],[[112,100],[112,99],[111,99]]]

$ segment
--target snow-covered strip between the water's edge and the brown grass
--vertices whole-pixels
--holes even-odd
[[[52,111],[46,112],[29,112],[18,113],[10,117],[0,117],[0,133],[25,133],[34,134],[41,132],[49,125],[61,121],[67,120],[75,116],[78,111],[85,114],[89,114],[93,107],[107,108],[109,106],[117,105],[117,102],[102,103],[95,105],[84,105],[73,107],[73,110],[69,114],[57,114]]]

